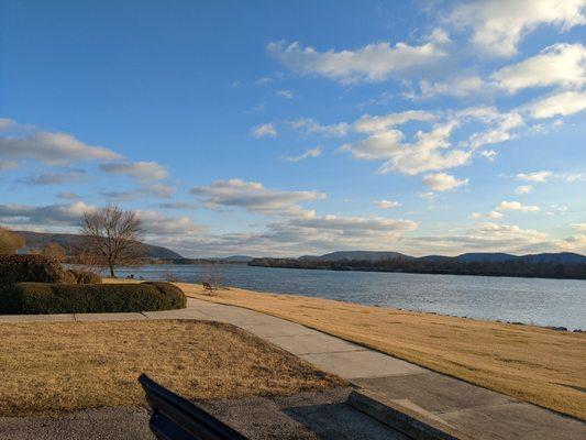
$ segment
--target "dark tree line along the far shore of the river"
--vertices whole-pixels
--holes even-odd
[[[305,258],[255,258],[251,266],[329,271],[406,272],[420,274],[524,276],[586,279],[586,263],[532,263],[524,260],[463,262],[456,258],[386,258],[319,261]]]

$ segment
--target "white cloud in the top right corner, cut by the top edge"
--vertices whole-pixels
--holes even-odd
[[[485,52],[511,56],[540,24],[562,31],[586,23],[584,0],[478,0],[457,4],[447,18],[454,28],[472,28],[472,41]]]

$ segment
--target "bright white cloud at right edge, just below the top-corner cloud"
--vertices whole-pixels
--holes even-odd
[[[586,84],[586,47],[554,44],[539,55],[494,73],[498,87],[513,94],[528,87],[582,87]]]

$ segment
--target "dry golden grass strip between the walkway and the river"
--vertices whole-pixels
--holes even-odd
[[[188,296],[246,307],[521,400],[586,419],[586,334],[230,288]]]

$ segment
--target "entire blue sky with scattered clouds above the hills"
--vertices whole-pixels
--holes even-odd
[[[0,226],[586,254],[586,0],[0,3]]]

